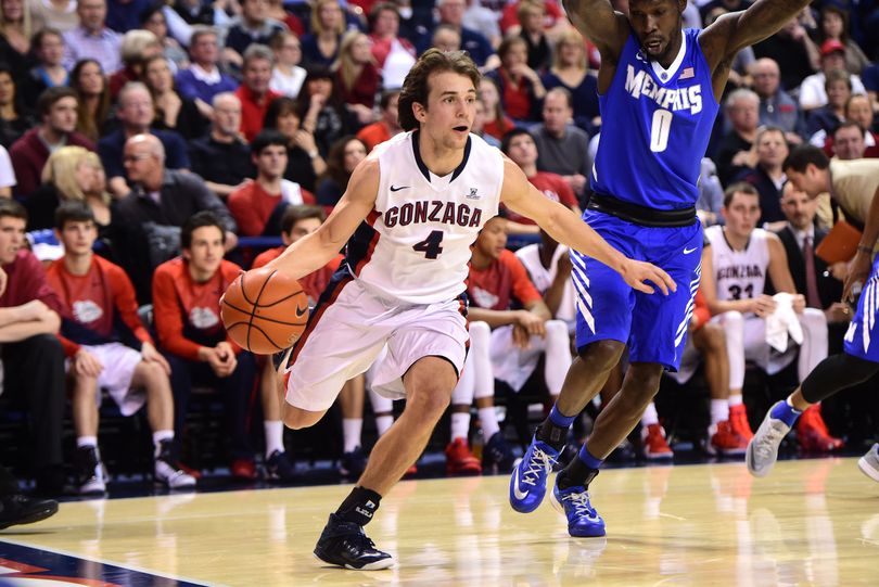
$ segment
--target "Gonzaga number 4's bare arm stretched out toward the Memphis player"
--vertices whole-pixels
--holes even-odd
[[[589,255],[620,273],[632,288],[653,293],[653,288],[647,283],[649,281],[666,295],[668,290],[677,290],[668,273],[649,263],[633,260],[616,251],[576,214],[537,191],[537,188],[528,183],[522,169],[506,157],[500,200],[517,214],[537,222],[560,243]]]

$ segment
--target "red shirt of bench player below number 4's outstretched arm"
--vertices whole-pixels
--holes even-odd
[[[489,310],[508,310],[513,298],[523,306],[543,301],[525,266],[509,250],[501,252],[486,269],[470,267],[467,295],[471,304]]]

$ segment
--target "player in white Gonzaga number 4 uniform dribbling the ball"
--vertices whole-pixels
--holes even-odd
[[[676,289],[667,273],[611,247],[575,214],[537,192],[514,163],[470,135],[479,81],[464,52],[426,51],[400,92],[406,132],[357,166],[316,232],[268,264],[297,279],[326,265],[347,242],[346,259],[285,368],[288,426],[320,420],[342,384],[366,371],[385,345],[374,386],[407,398],[357,486],[330,514],[315,548],[328,564],[374,570],[394,563],[362,526],[424,449],[449,404],[468,343],[461,294],[470,245],[500,202],[608,264],[639,291],[652,293],[655,286],[667,295]]]

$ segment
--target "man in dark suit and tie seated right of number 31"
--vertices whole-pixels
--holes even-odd
[[[815,254],[815,248],[827,235],[827,230],[815,226],[817,200],[810,199],[808,194],[799,191],[788,181],[781,189],[781,212],[787,224],[777,234],[788,254],[793,284],[797,292],[805,296],[806,306],[824,310],[829,329],[829,350],[838,353],[852,319],[849,305],[840,302],[845,264],[828,266]]]

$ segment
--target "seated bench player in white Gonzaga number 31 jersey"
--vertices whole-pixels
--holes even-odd
[[[748,183],[734,183],[726,189],[722,213],[726,226],[705,229],[702,293],[714,316],[712,321],[724,327],[730,406],[736,406],[741,403],[746,359],[774,374],[797,358],[793,342],[789,341],[784,353],[766,342],[766,318],[777,309],[773,296],[763,293],[767,276],[777,292],[793,295],[791,305],[803,334],[799,345],[800,381],[827,357],[827,318],[819,309],[806,308],[805,298],[797,294],[781,240],[773,232],[755,228],[761,214],[757,191]],[[816,417],[820,418],[817,413]]]

